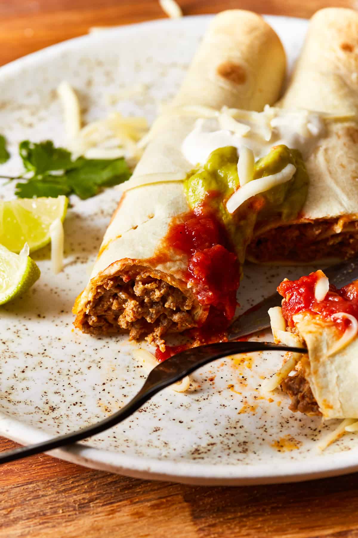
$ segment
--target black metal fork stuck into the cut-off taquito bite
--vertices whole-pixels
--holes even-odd
[[[194,372],[200,368],[200,366],[228,355],[250,353],[252,351],[307,352],[306,349],[273,344],[271,342],[224,342],[202,345],[198,348],[181,351],[180,353],[177,353],[177,355],[173,355],[173,357],[159,363],[158,366],[151,370],[141,390],[117,413],[108,416],[106,419],[101,420],[92,426],[82,428],[81,430],[74,431],[70,434],[60,435],[53,439],[49,439],[48,441],[32,444],[27,447],[19,447],[3,453],[0,452],[0,464],[13,462],[16,459],[33,456],[34,454],[47,452],[55,448],[65,447],[69,444],[82,441],[92,435],[99,434],[101,431],[112,428],[119,422],[122,422],[122,420],[125,420],[145,404],[145,402],[150,400],[152,396],[163,390],[163,388],[176,383],[176,381],[179,381],[183,377]]]

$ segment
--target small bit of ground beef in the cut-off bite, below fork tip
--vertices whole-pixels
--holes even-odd
[[[281,383],[281,389],[291,398],[291,404],[288,406],[291,411],[300,411],[306,415],[321,414],[311,387],[302,373],[297,372],[294,376],[287,376]]]

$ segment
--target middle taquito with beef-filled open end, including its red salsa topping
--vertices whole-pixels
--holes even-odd
[[[240,211],[231,217],[223,205],[238,186],[237,152],[217,155],[214,171],[213,159],[196,167],[198,181],[209,177],[219,186],[212,200],[191,188],[194,181],[186,183],[194,166],[181,146],[198,117],[193,107],[262,110],[279,97],[285,66],[280,40],[261,17],[240,10],[215,17],[173,103],[189,114],[163,114],[155,122],[76,300],[77,328],[129,332],[164,349],[167,332],[204,325],[210,332],[232,318],[253,225],[247,202],[247,232],[237,240],[236,223],[244,229],[245,218]]]

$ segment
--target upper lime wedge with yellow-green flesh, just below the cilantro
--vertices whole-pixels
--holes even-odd
[[[68,199],[19,198],[0,201],[0,244],[12,252],[20,252],[24,244],[30,252],[41,249],[50,242],[50,225],[66,216]]]

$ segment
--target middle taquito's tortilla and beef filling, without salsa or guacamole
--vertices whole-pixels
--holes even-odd
[[[223,12],[210,24],[174,105],[259,110],[279,96],[285,65],[280,40],[261,17]],[[77,328],[92,334],[129,331],[130,338],[146,337],[162,346],[167,331],[183,331],[206,319],[209,307],[200,305],[185,278],[188,258],[163,243],[173,218],[189,210],[182,180],[192,165],[180,148],[194,122],[182,115],[156,122],[155,136],[130,180],[132,188],[105,233],[91,280],[76,300]],[[151,183],[151,175],[156,182]],[[133,188],[135,181],[140,186]]]

